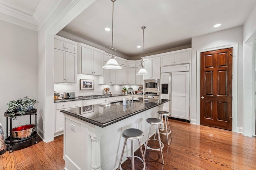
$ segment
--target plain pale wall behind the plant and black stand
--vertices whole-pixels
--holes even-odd
[[[25,96],[38,100],[38,33],[0,20],[0,39],[0,122],[6,133],[6,104]],[[29,120],[18,117],[12,127],[30,124]]]

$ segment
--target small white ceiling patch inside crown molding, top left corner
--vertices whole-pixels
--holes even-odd
[[[14,10],[33,16],[40,0],[0,0],[0,4]]]

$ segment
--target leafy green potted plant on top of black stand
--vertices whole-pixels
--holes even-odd
[[[10,101],[6,104],[8,106],[7,111],[10,113],[10,119],[16,119],[17,114],[20,114],[20,116],[26,114],[26,111],[33,109],[36,103],[38,103],[38,101],[28,98],[28,96],[23,99]]]

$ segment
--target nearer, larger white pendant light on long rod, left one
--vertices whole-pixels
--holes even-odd
[[[106,65],[102,66],[105,69],[110,69],[110,70],[117,70],[117,69],[121,69],[122,67],[117,63],[117,61],[114,59],[117,58],[117,56],[109,54],[109,50],[114,50],[116,51],[116,49],[113,48],[113,27],[114,27],[114,2],[116,2],[116,0],[111,0],[113,2],[113,10],[112,10],[112,47],[108,48],[108,56],[111,57],[111,59],[106,63]]]

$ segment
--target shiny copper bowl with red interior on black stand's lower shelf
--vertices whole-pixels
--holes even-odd
[[[24,138],[32,135],[35,131],[36,125],[24,125],[15,127],[12,129],[12,137],[14,138]]]

